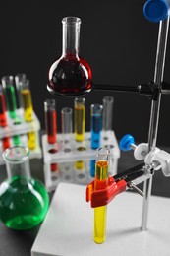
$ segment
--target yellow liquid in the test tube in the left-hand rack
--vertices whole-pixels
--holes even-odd
[[[27,122],[32,121],[32,113],[33,113],[33,107],[32,107],[32,101],[31,101],[31,94],[29,89],[24,89],[21,91],[22,94],[22,101],[24,106],[24,115],[25,120]]]

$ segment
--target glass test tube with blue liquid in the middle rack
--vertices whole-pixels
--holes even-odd
[[[90,106],[92,149],[97,149],[100,147],[102,129],[102,110],[103,106],[100,104],[92,104]]]

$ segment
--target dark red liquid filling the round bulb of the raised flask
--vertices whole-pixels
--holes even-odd
[[[60,96],[77,96],[92,89],[92,72],[83,58],[66,55],[54,62],[49,70],[47,89]]]

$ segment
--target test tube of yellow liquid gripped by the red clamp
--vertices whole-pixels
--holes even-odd
[[[96,151],[94,189],[104,189],[108,183],[109,151],[105,147]],[[94,208],[94,234],[96,243],[103,243],[106,236],[107,206]]]

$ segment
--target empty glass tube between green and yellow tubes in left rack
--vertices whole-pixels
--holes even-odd
[[[17,99],[18,99],[18,108],[23,108],[22,105],[22,96],[21,96],[21,89],[23,88],[24,84],[26,83],[27,77],[26,74],[20,73],[15,76],[16,82],[16,89],[17,89]]]

